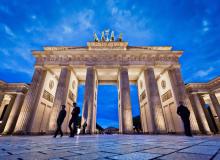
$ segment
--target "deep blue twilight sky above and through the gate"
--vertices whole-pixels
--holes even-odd
[[[122,32],[129,45],[184,50],[180,62],[185,83],[208,81],[220,75],[219,20],[219,0],[1,0],[0,79],[29,83],[35,61],[31,50],[85,46],[94,32],[100,36],[109,28],[116,35]],[[79,90],[82,104],[83,87]],[[137,105],[137,89],[131,90]],[[106,99],[112,92],[115,97]],[[97,114],[103,124],[117,122],[116,93],[115,86],[99,87]],[[138,109],[133,112],[138,114]]]

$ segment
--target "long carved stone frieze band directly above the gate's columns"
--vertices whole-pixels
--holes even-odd
[[[175,65],[179,64],[178,59],[178,56],[173,55],[144,54],[47,55],[36,57],[36,65]]]

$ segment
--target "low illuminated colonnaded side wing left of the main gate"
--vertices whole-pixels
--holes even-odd
[[[12,134],[29,86],[0,81],[0,133]]]

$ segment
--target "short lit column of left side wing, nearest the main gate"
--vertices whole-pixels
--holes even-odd
[[[24,94],[18,93],[14,104],[12,106],[11,112],[8,117],[3,134],[11,134],[15,128],[19,113],[21,111],[22,102],[24,100]]]

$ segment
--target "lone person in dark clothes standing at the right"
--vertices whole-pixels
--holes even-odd
[[[190,111],[186,106],[183,105],[182,101],[180,101],[179,104],[180,105],[177,108],[177,114],[181,117],[181,119],[183,121],[185,135],[191,137],[192,133],[191,133],[191,128],[190,128],[190,120],[189,120]]]

